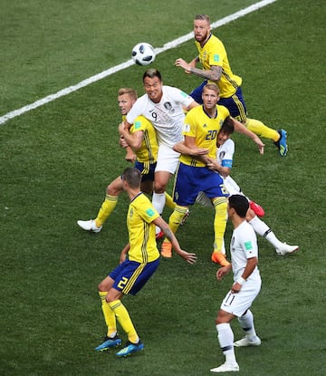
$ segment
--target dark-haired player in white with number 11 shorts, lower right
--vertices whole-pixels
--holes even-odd
[[[225,355],[225,363],[211,369],[211,372],[239,371],[234,346],[261,344],[260,338],[255,333],[254,315],[250,310],[255,297],[260,292],[262,281],[257,267],[257,239],[253,227],[245,220],[248,208],[249,202],[245,196],[233,195],[228,198],[227,214],[234,226],[230,244],[232,263],[219,268],[216,277],[217,280],[221,280],[232,269],[234,284],[225,295],[216,317],[218,342]],[[234,343],[234,333],[230,323],[235,317],[245,331],[245,338]]]

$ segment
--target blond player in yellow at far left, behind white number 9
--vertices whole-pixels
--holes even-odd
[[[118,92],[118,103],[122,120],[125,120],[127,113],[137,100],[137,93],[130,88],[121,88]],[[120,145],[128,148],[126,159],[135,162],[135,167],[142,175],[141,189],[143,192],[151,194],[153,191],[154,170],[158,159],[158,140],[156,130],[151,122],[143,116],[139,116],[129,130],[120,127]],[[122,192],[122,181],[120,176],[115,178],[106,190],[106,197],[101,205],[95,219],[79,220],[77,224],[83,230],[98,233],[105,221],[118,203],[118,198]],[[172,198],[166,193],[166,204],[174,208]],[[159,234],[161,236],[161,234]]]

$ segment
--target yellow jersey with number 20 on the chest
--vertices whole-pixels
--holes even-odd
[[[208,116],[204,106],[197,106],[187,112],[183,135],[195,138],[197,147],[208,149],[207,156],[216,159],[217,133],[228,116],[230,112],[225,106],[216,105],[215,118]],[[180,162],[194,167],[206,166],[204,162],[186,154],[180,156]]]

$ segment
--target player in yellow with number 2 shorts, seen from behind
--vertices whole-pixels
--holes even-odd
[[[104,341],[95,348],[98,352],[104,352],[121,344],[117,333],[118,321],[128,336],[126,346],[116,353],[118,357],[139,352],[144,348],[121,299],[126,294],[137,294],[158,268],[159,253],[155,239],[155,227],[161,228],[165,236],[168,236],[172,242],[177,255],[183,257],[187,263],[194,264],[197,259],[196,254],[189,254],[180,248],[177,238],[168,224],[159,216],[149,198],[141,192],[139,169],[125,169],[121,180],[123,189],[127,192],[130,200],[127,215],[129,246],[121,257],[123,260],[120,265],[99,284],[101,307],[108,332]]]

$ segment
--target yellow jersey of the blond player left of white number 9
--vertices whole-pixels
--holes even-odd
[[[144,132],[140,148],[136,151],[137,160],[141,163],[153,164],[158,159],[158,139],[152,123],[144,116],[138,116],[129,129],[130,134],[139,130]]]

